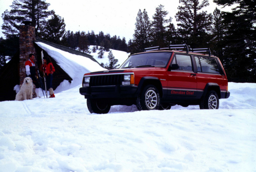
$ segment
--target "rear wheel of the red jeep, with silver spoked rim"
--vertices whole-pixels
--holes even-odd
[[[200,109],[218,109],[219,99],[215,91],[207,92],[206,96],[201,100]]]

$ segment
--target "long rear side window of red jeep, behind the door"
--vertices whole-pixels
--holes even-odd
[[[218,70],[217,62],[214,58],[196,57],[195,59],[196,59],[196,63],[197,63],[197,59],[199,60],[199,67],[201,64],[202,72],[218,73],[218,74],[220,73],[220,71]],[[196,65],[198,65],[198,63]],[[197,71],[199,71],[198,66],[197,66]]]

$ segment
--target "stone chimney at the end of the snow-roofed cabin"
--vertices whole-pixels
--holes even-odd
[[[36,49],[34,47],[34,41],[36,41],[35,27],[30,26],[31,21],[26,19],[23,21],[25,25],[20,26],[20,87],[23,84],[24,78],[26,78],[25,63],[29,60],[29,54],[35,55],[36,64]],[[37,64],[36,64],[37,65]]]

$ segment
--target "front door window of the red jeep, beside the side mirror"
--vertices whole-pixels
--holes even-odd
[[[173,62],[171,64],[178,64],[178,70],[192,71],[192,62],[189,55],[175,54]]]

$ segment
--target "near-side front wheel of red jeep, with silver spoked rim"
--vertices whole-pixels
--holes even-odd
[[[158,110],[160,105],[160,94],[153,85],[147,85],[136,99],[138,110]]]

